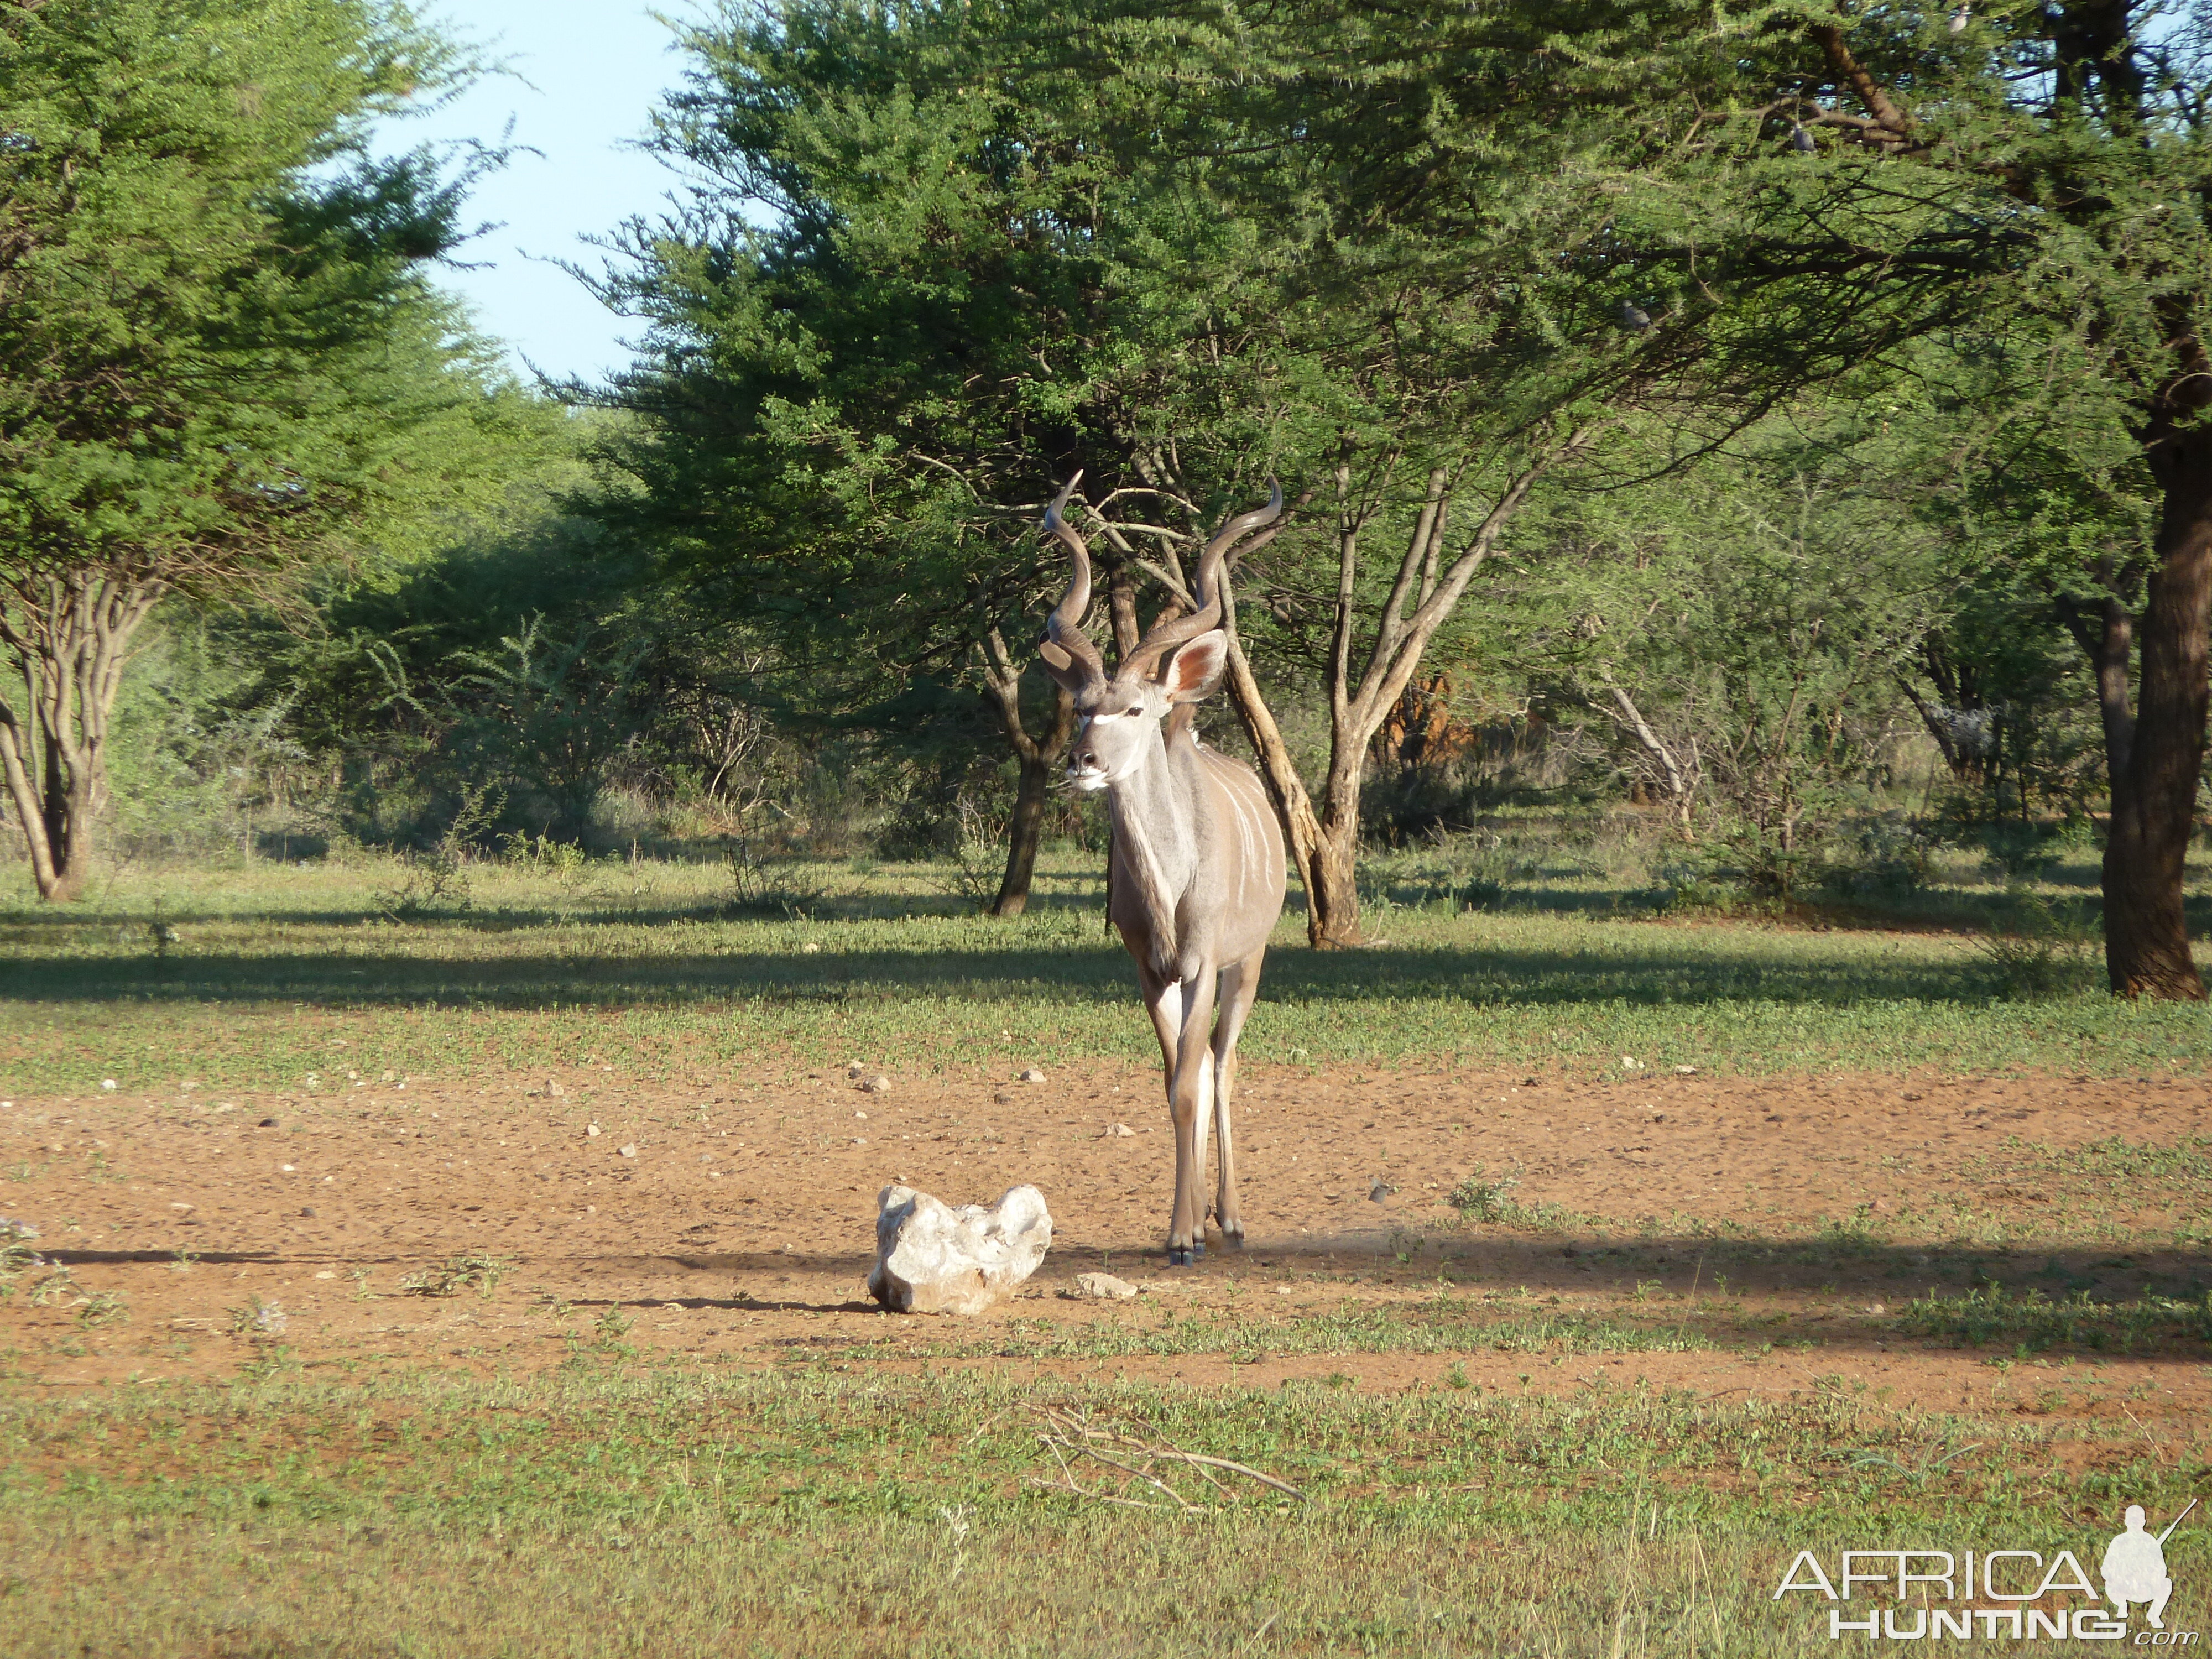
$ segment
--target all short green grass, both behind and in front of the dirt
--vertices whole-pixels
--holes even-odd
[[[1418,858],[1378,872],[1378,896],[1400,898],[1371,914],[1376,949],[1316,956],[1285,918],[1248,1055],[1610,1077],[2212,1062],[2203,1009],[2013,1002],[1962,936],[1652,920],[1635,872],[1571,863],[1458,914],[1411,902]],[[467,907],[451,891],[400,902],[407,880],[356,858],[124,872],[71,909],[18,896],[0,911],[7,1091],[299,1091],[310,1073],[467,1077],[586,1055],[668,1079],[849,1055],[1152,1060],[1130,967],[1102,936],[1095,858],[1048,860],[1020,922],[960,914],[953,872],[929,865],[776,872],[805,916],[732,914],[714,865],[471,867]],[[1922,909],[1995,902],[1962,876]],[[2188,1261],[2148,1287],[2104,1274],[2135,1272],[2117,1252],[2212,1239],[2212,1146],[2004,1139],[1964,1168],[1918,1157],[1885,1172],[1942,1197],[1865,1206],[1818,1237],[1668,1217],[1648,1239],[1584,1239],[1595,1223],[1500,1170],[1453,1194],[1458,1214],[1440,1203],[1394,1239],[1400,1263],[1433,1250],[1442,1272],[1447,1245],[1493,1230],[1557,1245],[1566,1230],[1562,1254],[1630,1276],[1686,1267],[1679,1245],[1697,1241],[1688,1296],[1681,1272],[1674,1292],[1648,1281],[1575,1305],[1360,1303],[1301,1283],[1307,1305],[1152,1296],[1082,1321],[783,1338],[730,1363],[641,1360],[633,1316],[606,1307],[529,1378],[305,1354],[254,1298],[223,1336],[237,1380],[82,1394],[24,1380],[0,1325],[0,1635],[38,1659],[1838,1652],[1823,1604],[1772,1599],[1798,1548],[1829,1564],[1885,1544],[2095,1562],[2128,1502],[2170,1517],[2212,1467],[2208,1425],[2168,1413],[2152,1433],[2112,1400],[2077,1411],[2081,1389],[2059,1385],[2099,1367],[2031,1358],[2128,1354],[2159,1367],[2112,1383],[2139,1389],[2203,1363],[2212,1303]],[[1909,1298],[2028,1245],[2048,1256],[2046,1292]],[[491,1296],[504,1267],[458,1254],[405,1287]],[[1730,1285],[1776,1267],[1911,1290],[1792,1312]],[[18,1307],[49,1279],[0,1261]],[[55,1285],[75,1296],[66,1270]],[[84,1329],[55,1352],[102,1340],[100,1321],[153,1343],[155,1301],[137,1301],[82,1298]],[[1898,1405],[1874,1367],[1902,1343],[1989,1365],[2002,1387],[1975,1389],[1973,1411]],[[1571,1358],[1599,1354],[1626,1363],[1555,1394]],[[1637,1376],[1646,1354],[1670,1356],[1668,1376],[1772,1354],[1803,1387],[1666,1391]],[[1186,1356],[1296,1358],[1314,1380],[1099,1376]],[[1442,1378],[1369,1394],[1352,1356],[1420,1356],[1360,1369]],[[1517,1387],[1473,1380],[1478,1358]],[[2017,1383],[2042,1389],[1995,1398]],[[1248,1464],[1298,1498],[1157,1464],[1170,1498],[1071,1453],[1068,1425]],[[1064,1489],[1064,1455],[1088,1495]],[[2170,1628],[2205,1624],[2203,1540],[2185,1526],[2168,1546]]]

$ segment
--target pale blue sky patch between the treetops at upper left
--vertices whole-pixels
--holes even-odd
[[[670,15],[699,15],[681,0],[659,0]],[[584,246],[633,212],[655,210],[672,175],[626,148],[646,131],[659,93],[681,77],[670,31],[641,0],[447,0],[429,15],[502,60],[453,104],[394,122],[392,148],[476,137],[498,142],[513,119],[518,153],[504,173],[478,186],[471,221],[495,230],[465,250],[478,270],[442,281],[476,310],[478,325],[553,376],[602,376],[628,361],[624,319],[606,312],[573,276],[546,263],[599,261]]]

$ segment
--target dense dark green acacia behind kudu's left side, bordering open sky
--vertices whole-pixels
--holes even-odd
[[[1002,916],[1073,734],[1033,666],[1035,522],[1077,469],[1106,511],[1164,484],[1159,345],[1197,323],[1141,252],[1210,268],[1228,234],[1155,188],[1126,82],[1022,73],[1046,15],[783,0],[679,31],[655,146],[681,206],[597,281],[646,323],[611,389],[637,489],[599,511],[772,626],[818,714],[887,730],[918,684],[975,695],[1018,763]],[[1133,557],[1102,546],[1117,637]]]

